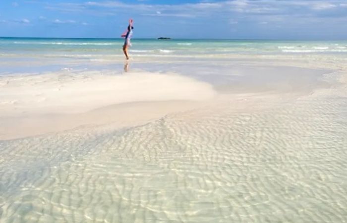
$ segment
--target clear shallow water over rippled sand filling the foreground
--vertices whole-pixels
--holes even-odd
[[[347,101],[0,141],[0,222],[346,222]]]

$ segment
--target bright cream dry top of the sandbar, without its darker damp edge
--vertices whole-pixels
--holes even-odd
[[[3,76],[0,112],[79,113],[114,104],[153,101],[203,101],[213,87],[177,74],[60,72]]]

